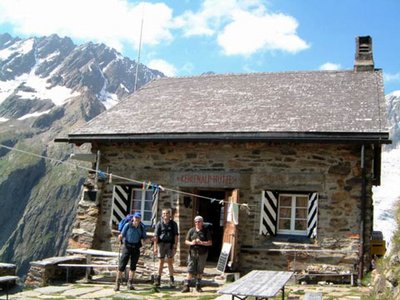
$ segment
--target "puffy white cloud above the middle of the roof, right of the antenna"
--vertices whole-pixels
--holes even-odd
[[[205,0],[197,12],[177,18],[186,36],[217,36],[226,55],[252,55],[258,51],[290,53],[309,45],[296,33],[297,21],[284,14],[271,14],[261,1]]]

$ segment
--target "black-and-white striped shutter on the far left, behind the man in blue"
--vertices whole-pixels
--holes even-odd
[[[112,199],[111,222],[118,225],[119,221],[125,218],[131,211],[130,194],[131,187],[127,185],[114,185]]]

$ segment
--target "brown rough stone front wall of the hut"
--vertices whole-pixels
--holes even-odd
[[[173,174],[176,172],[238,174],[240,180],[235,188],[240,190],[240,202],[249,204],[251,209],[250,215],[240,212],[238,243],[239,249],[242,249],[239,253],[241,269],[297,269],[296,265],[305,267],[307,264],[301,262],[304,257],[304,261],[312,261],[315,268],[318,265],[342,265],[344,269],[353,270],[358,261],[362,181],[360,145],[149,142],[93,148],[94,152],[97,150],[101,151],[101,170],[108,170],[124,178],[156,182],[176,190],[182,189],[175,186]],[[372,230],[372,151],[367,147],[365,153],[368,176],[365,249],[368,250]],[[80,212],[83,215],[78,215],[81,224],[79,228],[84,227],[83,223],[96,224],[96,228],[88,230],[93,234],[92,245],[99,249],[115,250],[118,245],[109,223],[112,187],[113,184],[124,183],[127,181],[119,179],[113,179],[111,183],[104,182],[98,205],[82,206]],[[273,237],[259,235],[260,198],[263,190],[314,191],[319,194],[317,237],[308,242],[318,251],[298,255],[297,262],[294,263],[291,258],[294,257],[293,254],[282,251],[272,253],[268,250],[288,249],[293,247],[293,243],[277,244]],[[165,192],[162,193],[159,205],[159,209],[176,205],[173,207],[175,221],[181,232],[177,262],[181,264],[185,263],[187,252],[183,245],[184,236],[193,226],[192,209],[182,205],[183,197],[177,193]],[[74,234],[77,234],[77,228],[74,229]],[[80,242],[79,238],[76,240]],[[86,241],[82,244],[86,244]],[[300,245],[299,253],[307,247]],[[326,253],[321,252],[324,249],[327,250]],[[333,250],[341,252],[334,253]]]

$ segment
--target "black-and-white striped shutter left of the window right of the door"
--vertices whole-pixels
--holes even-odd
[[[273,191],[261,193],[260,234],[276,235],[278,195]]]

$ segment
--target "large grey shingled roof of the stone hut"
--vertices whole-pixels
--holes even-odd
[[[160,78],[69,134],[69,142],[349,139],[387,143],[382,71]]]

